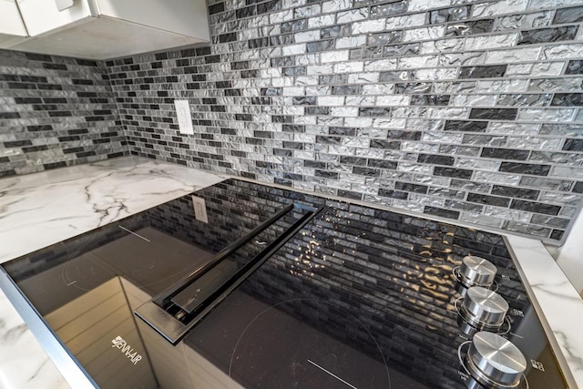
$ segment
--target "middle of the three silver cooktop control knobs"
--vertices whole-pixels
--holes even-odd
[[[508,303],[496,292],[481,286],[467,290],[462,303],[461,314],[465,321],[480,330],[497,330],[504,323]]]

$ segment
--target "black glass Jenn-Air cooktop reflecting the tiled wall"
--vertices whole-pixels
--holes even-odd
[[[443,222],[230,179],[3,267],[101,387],[504,387],[468,366],[468,255],[513,387],[566,388],[503,238]]]

